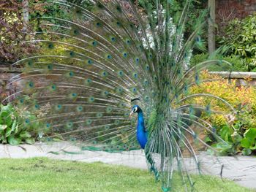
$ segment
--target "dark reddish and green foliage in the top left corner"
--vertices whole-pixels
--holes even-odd
[[[42,24],[42,16],[49,18],[67,18],[67,15],[58,4],[50,4],[49,0],[28,0],[29,1],[29,26],[23,28],[23,4],[21,0],[4,1],[0,3],[0,61],[5,64],[12,64],[26,55],[31,55],[39,50],[39,45],[26,43],[34,39],[39,32],[48,29]],[[82,7],[89,7],[88,0],[68,0],[69,3],[78,3]],[[60,24],[56,22],[56,24]],[[25,43],[24,43],[25,42]]]

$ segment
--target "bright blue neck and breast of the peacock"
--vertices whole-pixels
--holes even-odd
[[[137,139],[140,147],[144,149],[148,139],[142,110],[138,112]]]

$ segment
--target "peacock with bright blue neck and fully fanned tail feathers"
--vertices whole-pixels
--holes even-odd
[[[222,140],[203,118],[217,112],[211,101],[233,112],[217,96],[189,91],[216,80],[203,79],[203,69],[230,65],[214,59],[189,65],[193,50],[204,47],[207,12],[185,34],[192,0],[177,13],[170,9],[172,1],[141,0],[140,7],[132,0],[50,3],[66,14],[38,18],[39,30],[24,44],[39,49],[13,64],[23,72],[9,85],[19,82],[23,88],[4,101],[34,114],[23,126],[37,126],[48,141],[58,137],[81,150],[109,153],[143,149],[162,191],[175,190],[173,172],[192,190],[185,153],[200,170],[198,150],[210,147],[200,133]]]

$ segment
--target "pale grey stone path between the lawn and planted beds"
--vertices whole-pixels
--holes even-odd
[[[61,152],[80,151],[79,147],[69,142],[36,143],[34,145],[0,145],[0,158],[31,158],[48,157],[71,161],[95,162],[101,161],[107,164],[118,164],[134,168],[147,169],[146,158],[143,150],[134,150],[123,153],[106,153],[83,151],[83,153],[71,155],[60,153],[54,155],[50,151]],[[236,156],[213,158],[206,153],[198,155],[204,174],[219,175],[222,165],[222,177],[233,180],[240,185],[256,189],[256,157]],[[185,160],[189,167],[189,172],[196,172],[195,166],[191,163],[191,158]],[[255,190],[256,191],[256,190]]]

